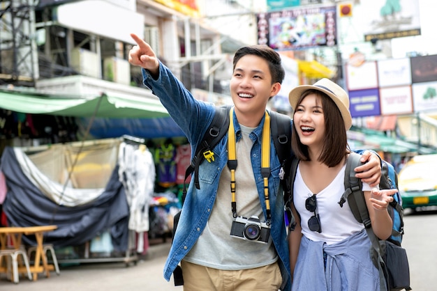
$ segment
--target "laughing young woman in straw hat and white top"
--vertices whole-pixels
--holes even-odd
[[[364,225],[348,203],[339,205],[350,153],[348,95],[321,79],[313,86],[297,86],[289,97],[292,150],[300,161],[292,205],[297,226],[289,236],[292,290],[379,290]],[[396,190],[380,191],[363,182],[363,191],[373,231],[386,239],[392,232],[387,205]]]

